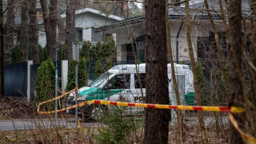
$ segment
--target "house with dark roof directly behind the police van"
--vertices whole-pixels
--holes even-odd
[[[242,15],[243,17],[248,17],[248,15],[250,15],[249,0],[242,0],[241,2]],[[227,50],[227,39],[225,38],[225,29],[223,26],[223,20],[221,18],[218,0],[212,0],[208,3],[212,17],[217,27],[217,31],[220,33],[221,48],[224,49],[223,55],[227,57],[227,51],[225,51]],[[216,49],[216,46],[214,48],[214,35],[212,35],[213,29],[209,20],[209,15],[207,14],[204,1],[189,1],[189,5],[189,12],[191,17],[191,39],[193,43],[193,49],[195,50],[194,55],[195,57],[205,56],[205,54],[200,53],[203,49],[205,49],[205,44],[207,44],[207,47],[211,47],[211,49]],[[223,6],[226,10],[225,4],[223,4]],[[177,8],[170,8],[169,19],[173,60],[189,61],[190,59],[185,29],[184,5],[181,4]],[[250,30],[250,28],[248,29]],[[144,15],[141,15],[140,17],[132,17],[126,20],[120,20],[106,26],[100,26],[97,28],[97,31],[116,34],[118,61],[134,60],[132,46],[134,46],[136,51],[136,60],[140,59],[141,61],[145,61],[145,49],[147,49],[147,47],[145,47],[144,44]],[[221,33],[223,35],[221,35]]]

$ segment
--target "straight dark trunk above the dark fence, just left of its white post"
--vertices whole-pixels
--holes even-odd
[[[21,5],[21,21],[20,21],[20,61],[28,61],[28,0],[23,0]]]

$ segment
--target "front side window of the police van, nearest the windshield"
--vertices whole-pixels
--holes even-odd
[[[130,88],[130,74],[118,74],[109,83],[112,84],[112,89]]]

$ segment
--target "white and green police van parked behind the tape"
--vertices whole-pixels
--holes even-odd
[[[175,76],[180,93],[180,102],[183,105],[193,104],[194,87],[193,75],[188,65],[174,64]],[[137,68],[136,68],[137,67]],[[146,95],[146,65],[116,65],[97,77],[92,83],[79,88],[78,103],[88,100],[111,100],[125,102],[143,102]],[[172,84],[172,70],[168,64],[168,88],[170,104],[176,105],[175,92]],[[67,100],[67,107],[76,104],[74,99],[75,93],[70,93]],[[160,97],[160,96],[159,96]],[[99,104],[90,104],[78,108],[79,117],[97,119],[100,115],[106,115],[111,109],[108,106]],[[141,115],[144,113],[143,108],[131,107],[127,109],[124,115]],[[75,109],[67,110],[67,113],[75,115]]]

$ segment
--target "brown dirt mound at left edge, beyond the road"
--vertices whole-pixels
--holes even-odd
[[[37,108],[32,102],[15,99],[13,97],[0,97],[0,120],[8,119],[29,119],[29,118],[49,118],[51,115],[38,115]],[[74,115],[61,113],[62,118],[74,118]],[[54,114],[52,115],[54,116]]]

